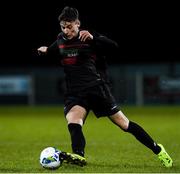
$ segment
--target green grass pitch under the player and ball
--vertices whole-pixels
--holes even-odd
[[[0,173],[179,173],[180,107],[122,107],[127,117],[162,143],[174,161],[161,166],[156,155],[109,119],[89,114],[83,127],[88,165],[63,164],[50,171],[39,164],[47,146],[71,152],[62,107],[0,107]]]

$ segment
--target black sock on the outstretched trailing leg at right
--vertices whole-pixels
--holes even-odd
[[[138,124],[130,121],[129,127],[126,132],[132,133],[137,140],[139,140],[146,147],[151,149],[155,154],[161,151],[161,148],[156,144],[155,141],[148,135],[148,133]]]

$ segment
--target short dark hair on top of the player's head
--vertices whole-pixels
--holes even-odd
[[[58,17],[58,21],[66,21],[66,22],[71,22],[79,19],[79,12],[76,8],[73,7],[64,7],[62,10],[61,14]]]

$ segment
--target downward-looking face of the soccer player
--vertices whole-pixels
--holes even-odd
[[[78,35],[80,23],[79,21],[73,21],[73,22],[61,21],[60,26],[66,38],[72,39]]]

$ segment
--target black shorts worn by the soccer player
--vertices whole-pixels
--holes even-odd
[[[75,105],[82,106],[87,113],[92,110],[96,117],[110,116],[119,111],[107,84],[93,86],[80,92],[67,93],[65,96],[65,115]]]

